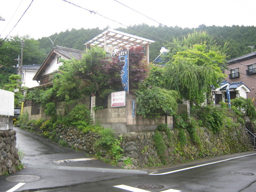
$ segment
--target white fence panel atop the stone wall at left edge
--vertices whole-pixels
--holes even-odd
[[[0,115],[13,116],[14,93],[0,89]]]

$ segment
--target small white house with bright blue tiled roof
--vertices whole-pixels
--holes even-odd
[[[237,97],[247,98],[247,94],[250,89],[242,81],[240,82],[228,82],[223,81],[219,88],[212,89],[214,104],[218,106],[220,102],[227,102],[227,87],[229,86],[230,99]]]

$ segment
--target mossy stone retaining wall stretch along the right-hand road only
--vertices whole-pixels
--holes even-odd
[[[242,126],[221,130],[218,134],[207,128],[199,128],[202,149],[190,141],[186,131],[187,144],[181,147],[178,132],[171,130],[171,143],[165,132],[161,132],[170,164],[252,150],[247,131]],[[154,146],[154,134],[155,132],[130,132],[124,135],[122,146],[125,155],[132,159],[134,167],[157,166],[161,163]]]

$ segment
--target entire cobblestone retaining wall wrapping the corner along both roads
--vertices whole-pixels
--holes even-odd
[[[33,131],[43,134],[39,129],[33,129]],[[242,126],[224,128],[218,134],[212,133],[208,128],[198,128],[201,147],[190,140],[190,135],[186,130],[184,132],[187,140],[185,146],[180,144],[179,130],[171,130],[171,139],[168,139],[165,132],[160,132],[167,147],[166,158],[170,164],[252,150],[247,131]],[[124,149],[124,156],[132,159],[130,168],[158,166],[162,163],[156,152],[154,134],[155,131],[116,135],[117,138],[123,137],[121,147]],[[62,128],[61,126],[54,130],[54,135],[70,147],[89,154],[96,153],[93,143],[100,138],[98,134],[92,132],[84,134],[77,128]],[[124,166],[122,163],[119,165]]]

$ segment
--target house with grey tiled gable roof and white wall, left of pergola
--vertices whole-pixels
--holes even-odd
[[[59,66],[62,64],[61,59],[70,60],[72,58],[82,59],[84,51],[56,46],[49,53],[44,60],[42,66],[34,75],[33,80],[39,82],[40,85],[49,84],[51,82],[51,76],[58,71]]]

